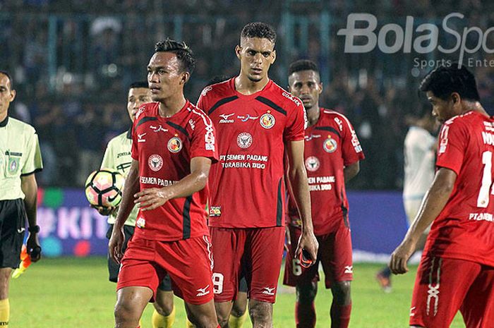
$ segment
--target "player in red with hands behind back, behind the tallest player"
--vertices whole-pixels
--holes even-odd
[[[311,191],[312,221],[319,242],[318,260],[304,268],[294,254],[293,243],[300,237],[300,216],[296,202],[289,197],[284,284],[296,286],[297,328],[315,327],[314,298],[318,291],[318,268],[323,264],[325,286],[331,288],[331,327],[347,328],[350,321],[352,280],[351,236],[345,181],[359,173],[362,148],[347,117],[319,107],[323,92],[318,66],[299,60],[289,67],[289,91],[306,108],[308,128],[304,158]]]

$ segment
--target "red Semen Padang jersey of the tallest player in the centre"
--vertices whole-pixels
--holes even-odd
[[[263,90],[242,95],[232,78],[206,87],[198,107],[218,131],[219,163],[210,173],[210,226],[282,226],[284,142],[303,140],[301,100],[272,80]]]

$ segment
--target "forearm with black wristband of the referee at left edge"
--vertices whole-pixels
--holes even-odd
[[[20,176],[20,188],[25,195],[25,212],[28,215],[29,226],[36,226],[36,206],[37,206],[37,183],[35,174]],[[37,232],[30,232],[28,237],[28,253],[32,262],[40,260],[41,247],[37,237]]]

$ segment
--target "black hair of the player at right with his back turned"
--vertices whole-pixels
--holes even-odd
[[[447,100],[453,92],[458,92],[462,99],[479,101],[475,76],[465,66],[439,66],[423,78],[419,90],[433,92],[435,97]]]

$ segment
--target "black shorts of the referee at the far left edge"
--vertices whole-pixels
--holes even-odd
[[[24,200],[0,200],[0,267],[19,267],[27,217]]]

